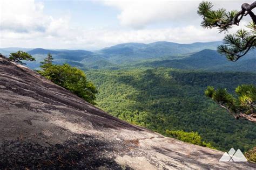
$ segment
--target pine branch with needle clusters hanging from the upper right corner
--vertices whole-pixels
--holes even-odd
[[[235,34],[227,34],[224,38],[224,44],[218,47],[220,54],[226,55],[227,59],[237,61],[244,56],[250,49],[256,47],[256,16],[253,9],[256,8],[256,2],[252,4],[244,3],[241,10],[232,10],[227,12],[225,9],[213,10],[211,2],[201,2],[198,6],[198,15],[203,17],[201,26],[206,29],[217,27],[220,32],[227,32],[233,25],[239,25],[241,19],[245,16],[251,17],[251,22],[247,25],[250,31],[240,29]]]

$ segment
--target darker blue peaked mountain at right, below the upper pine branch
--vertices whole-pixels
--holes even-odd
[[[236,62],[228,61],[217,51],[204,49],[181,59],[145,61],[136,66],[170,67],[179,69],[204,69],[211,71],[256,72],[256,51],[248,52]]]

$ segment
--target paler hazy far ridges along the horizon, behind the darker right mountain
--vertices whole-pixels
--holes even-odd
[[[114,63],[133,62],[149,58],[159,58],[173,54],[184,54],[198,52],[205,48],[215,49],[220,41],[216,42],[197,42],[193,44],[177,44],[174,42],[153,42],[151,44],[126,43],[118,44],[112,47],[103,48],[99,51],[90,52],[85,50],[66,50],[66,49],[43,49],[35,48],[32,50],[21,48],[31,55],[35,55],[39,62],[43,55],[51,53],[57,62],[81,62],[82,65],[90,66],[89,63],[108,61],[112,66]],[[18,48],[0,48],[0,53],[8,56],[11,52],[16,52]],[[86,60],[90,58],[90,60]],[[38,67],[38,63],[30,63],[30,68]],[[93,66],[92,66],[93,67]]]

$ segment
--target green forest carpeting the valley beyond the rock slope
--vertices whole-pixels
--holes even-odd
[[[199,132],[223,151],[256,145],[252,122],[233,119],[204,95],[207,86],[233,92],[239,84],[256,84],[256,74],[138,68],[89,70],[86,75],[99,90],[97,105],[125,121],[165,135],[166,130]]]

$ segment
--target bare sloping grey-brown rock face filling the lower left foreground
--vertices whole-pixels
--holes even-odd
[[[121,121],[0,56],[0,169],[254,169]]]

